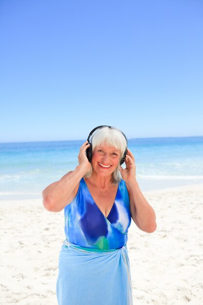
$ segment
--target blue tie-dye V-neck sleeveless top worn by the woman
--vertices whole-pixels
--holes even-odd
[[[80,247],[117,249],[126,245],[131,223],[126,183],[118,184],[108,217],[94,202],[85,180],[80,180],[73,201],[64,208],[66,239]]]

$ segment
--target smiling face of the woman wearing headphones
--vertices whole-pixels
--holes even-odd
[[[115,147],[98,146],[92,153],[92,168],[102,176],[110,175],[117,168],[120,156]]]

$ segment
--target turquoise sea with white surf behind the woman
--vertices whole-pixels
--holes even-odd
[[[40,198],[77,165],[81,141],[0,143],[0,199]],[[203,136],[128,140],[142,191],[203,183]]]

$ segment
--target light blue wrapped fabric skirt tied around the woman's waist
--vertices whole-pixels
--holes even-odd
[[[132,305],[127,246],[82,248],[65,241],[56,281],[58,305]]]

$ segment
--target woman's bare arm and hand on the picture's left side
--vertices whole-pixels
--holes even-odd
[[[42,191],[43,205],[46,210],[59,212],[74,199],[81,178],[91,169],[91,163],[86,156],[86,149],[90,146],[87,143],[86,141],[80,148],[79,165],[75,170],[68,172],[59,181],[50,184]]]

